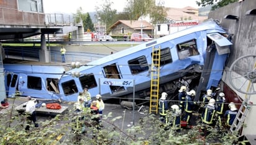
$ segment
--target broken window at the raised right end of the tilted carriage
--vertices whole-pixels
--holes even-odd
[[[189,56],[199,55],[195,39],[178,44],[177,50],[179,59],[185,59]]]

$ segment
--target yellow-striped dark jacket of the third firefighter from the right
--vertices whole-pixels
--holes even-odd
[[[213,124],[213,118],[214,118],[215,112],[216,112],[215,107],[211,105],[205,105],[202,113],[203,123],[206,123],[208,125]]]

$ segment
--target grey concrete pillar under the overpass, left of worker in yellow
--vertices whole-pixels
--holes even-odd
[[[39,50],[39,61],[42,63],[50,63],[50,49],[47,49],[45,34],[41,34],[41,49]]]

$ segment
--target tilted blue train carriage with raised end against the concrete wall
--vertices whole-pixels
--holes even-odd
[[[63,100],[76,101],[78,93],[88,87],[92,96],[100,93],[103,99],[132,99],[135,90],[135,98],[145,99],[150,96],[150,69],[154,65],[151,64],[152,51],[153,48],[160,48],[160,93],[167,92],[170,97],[168,99],[176,100],[178,87],[186,85],[197,90],[195,100],[198,100],[202,91],[217,87],[221,80],[229,46],[232,45],[224,34],[224,29],[209,20],[142,43],[66,71],[58,79],[59,92],[53,93]],[[71,75],[74,72],[78,77]],[[135,87],[101,85],[99,80],[102,78],[132,79]],[[45,78],[42,79],[45,81]],[[37,97],[45,98],[43,95]]]

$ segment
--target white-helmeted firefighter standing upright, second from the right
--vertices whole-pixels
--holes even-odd
[[[217,125],[219,128],[222,126],[222,120],[224,113],[224,103],[226,102],[225,94],[223,92],[220,92],[216,99],[216,115],[217,115]]]

